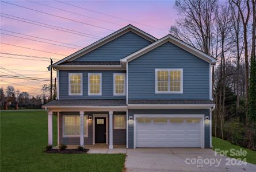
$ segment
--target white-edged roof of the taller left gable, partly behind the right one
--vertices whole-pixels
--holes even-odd
[[[114,32],[112,34],[109,34],[109,36],[106,36],[106,37],[102,38],[101,40],[98,40],[98,41],[94,42],[93,44],[90,44],[89,46],[86,46],[85,48],[78,50],[77,52],[71,54],[70,56],[63,58],[62,60],[59,60],[58,62],[55,62],[55,64],[53,64],[52,66],[55,67],[56,65],[62,64],[63,62],[75,60],[76,58],[81,57],[82,55],[89,53],[92,50],[97,49],[100,46],[102,46],[102,45],[122,36],[123,34],[128,33],[128,32],[133,32],[133,33],[145,38],[146,40],[148,40],[150,42],[155,42],[158,40],[157,38],[151,36],[150,34],[144,32],[143,30],[140,30],[130,24],[120,30],[117,30],[116,32]]]

